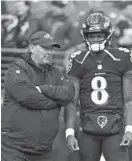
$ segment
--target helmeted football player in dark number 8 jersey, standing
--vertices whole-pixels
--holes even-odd
[[[114,29],[108,17],[90,14],[82,25],[86,49],[70,56],[67,76],[75,87],[65,108],[68,147],[80,161],[128,161],[132,141],[132,55],[110,48]],[[76,104],[80,101],[80,131],[75,137]]]

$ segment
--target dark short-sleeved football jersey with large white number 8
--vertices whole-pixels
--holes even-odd
[[[89,51],[70,56],[67,74],[80,79],[81,112],[114,112],[124,107],[122,78],[132,69],[130,52],[125,48],[102,52],[107,52],[102,62]]]

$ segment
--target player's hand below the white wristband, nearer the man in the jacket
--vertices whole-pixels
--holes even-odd
[[[72,136],[72,135],[69,135],[67,137],[67,146],[68,148],[71,150],[71,151],[77,151],[79,150],[79,146],[78,146],[78,141],[77,139]]]

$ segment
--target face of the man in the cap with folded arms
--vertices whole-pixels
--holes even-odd
[[[53,47],[43,48],[40,45],[30,45],[32,59],[37,65],[49,64],[52,58]]]

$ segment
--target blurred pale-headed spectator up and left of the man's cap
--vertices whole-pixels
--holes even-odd
[[[31,2],[17,1],[15,6],[19,20],[15,35],[16,45],[18,48],[26,48],[30,36],[39,30],[39,21],[31,14]]]

